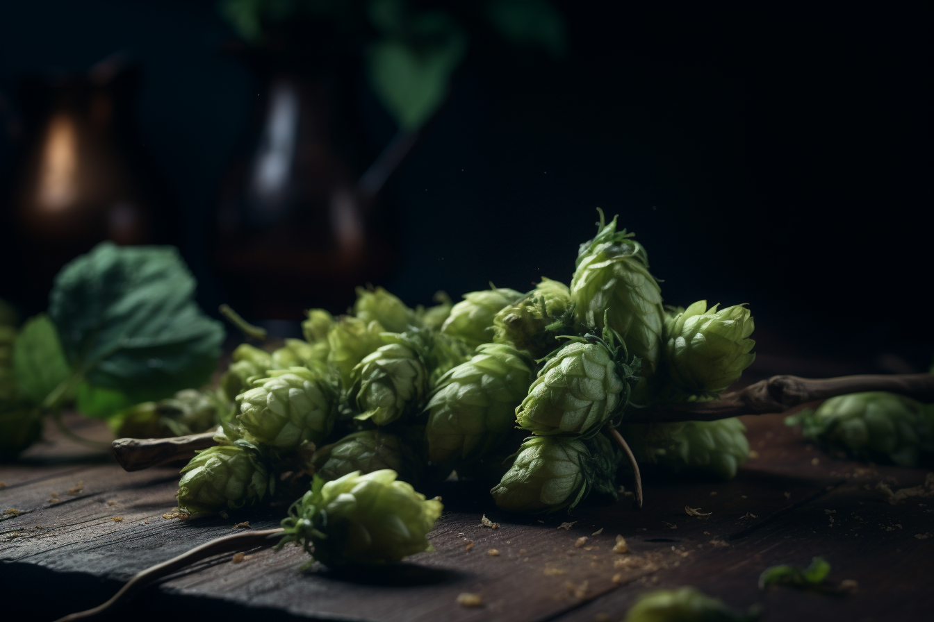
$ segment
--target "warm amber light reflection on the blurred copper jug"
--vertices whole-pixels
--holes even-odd
[[[60,212],[78,195],[78,131],[73,118],[51,118],[39,163],[39,205]]]

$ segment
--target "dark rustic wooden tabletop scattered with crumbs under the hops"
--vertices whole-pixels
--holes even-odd
[[[300,574],[304,553],[292,547],[246,551],[239,562],[223,555],[146,588],[113,619],[593,622],[622,618],[647,589],[685,585],[739,610],[758,605],[766,622],[930,619],[934,479],[922,488],[932,496],[893,505],[878,484],[923,485],[925,470],[833,460],[781,416],[745,420],[755,453],[738,477],[648,474],[641,511],[624,499],[570,517],[509,516],[484,491],[449,482],[432,553],[351,575],[319,567]],[[106,435],[102,426],[80,425],[84,435]],[[174,468],[125,473],[105,453],[58,437],[20,463],[0,465],[3,619],[50,620],[89,608],[153,563],[246,529],[234,527],[244,520],[248,529],[274,527],[283,512],[165,518],[177,477]],[[711,514],[688,516],[686,506]],[[501,527],[481,526],[482,514]],[[563,522],[572,524],[562,529]],[[629,555],[613,552],[616,534]],[[831,582],[855,580],[856,593],[758,590],[766,567],[806,565],[815,555],[832,564]],[[462,592],[480,595],[482,605],[460,606]]]

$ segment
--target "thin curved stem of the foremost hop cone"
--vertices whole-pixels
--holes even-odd
[[[178,557],[163,561],[162,563],[156,564],[155,566],[150,566],[146,570],[136,574],[126,583],[126,585],[120,587],[120,591],[114,594],[109,601],[106,601],[105,603],[100,604],[93,609],[65,615],[64,617],[60,617],[58,620],[56,620],[56,622],[87,620],[97,617],[98,615],[105,614],[108,609],[113,607],[118,602],[129,599],[142,587],[146,587],[152,581],[155,581],[156,579],[163,577],[166,574],[175,573],[177,570],[180,570],[185,566],[189,566],[195,561],[204,560],[205,558],[211,557],[212,555],[228,553],[230,551],[242,548],[269,546],[272,544],[269,541],[270,538],[281,532],[282,528],[280,527],[276,529],[262,530],[260,532],[234,533],[233,535],[225,535],[222,538],[216,538],[210,542],[205,542],[205,544],[201,546],[195,546],[190,551],[182,553]]]

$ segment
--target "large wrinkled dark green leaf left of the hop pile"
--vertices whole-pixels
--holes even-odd
[[[104,242],[59,273],[49,313],[89,384],[156,400],[204,384],[217,366],[223,328],[194,287],[175,248]]]

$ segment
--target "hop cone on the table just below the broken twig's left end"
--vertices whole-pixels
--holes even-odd
[[[205,449],[181,472],[178,507],[191,514],[256,505],[269,484],[259,451],[245,441]]]

